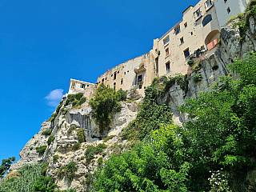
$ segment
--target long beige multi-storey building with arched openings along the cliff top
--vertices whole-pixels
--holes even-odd
[[[153,49],[138,58],[115,66],[98,77],[116,90],[132,87],[144,94],[153,78],[162,75],[187,74],[188,59],[198,61],[214,53],[221,26],[232,16],[246,8],[250,0],[201,0],[182,12],[182,19],[154,39]],[[234,15],[233,15],[234,16]]]

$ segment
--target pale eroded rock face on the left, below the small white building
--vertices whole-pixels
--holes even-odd
[[[64,106],[62,106],[64,107]],[[70,108],[71,106],[66,106]],[[118,134],[122,128],[126,127],[130,121],[134,120],[138,114],[139,106],[137,103],[122,102],[122,110],[113,114],[110,130],[102,135],[99,134],[98,126],[93,119],[93,110],[88,105],[88,102],[82,104],[80,108],[69,110],[65,115],[59,113],[54,122],[43,122],[42,128],[35,134],[26,146],[20,152],[20,160],[10,166],[9,171],[18,170],[18,168],[26,164],[34,164],[38,162],[49,162],[49,169],[46,175],[50,175],[55,180],[56,186],[60,190],[76,189],[77,191],[86,191],[86,178],[91,177],[91,174],[98,166],[98,158],[102,158],[103,162],[113,152],[114,146],[126,145],[126,141],[118,140]],[[60,110],[62,111],[62,109]],[[64,111],[64,110],[63,110]],[[71,126],[75,126],[68,134]],[[44,130],[52,129],[51,135],[54,135],[54,142],[48,146],[47,140],[50,135],[44,135]],[[86,142],[82,142],[78,150],[72,149],[74,143],[78,142],[77,130],[84,129]],[[95,158],[90,162],[86,162],[85,151],[87,146],[97,146],[103,143],[103,138],[113,135],[109,141],[104,142],[107,148],[104,150],[104,155],[95,155]],[[36,147],[47,146],[44,154],[38,154]],[[58,155],[58,159],[54,161],[54,156]],[[78,170],[74,173],[74,178],[70,181],[64,174],[59,176],[58,170],[62,166],[66,166],[69,162],[76,162]]]

